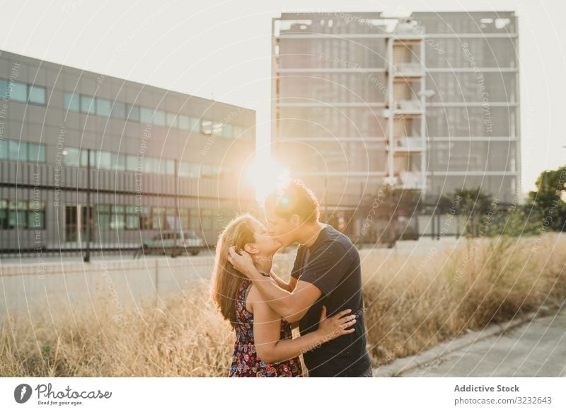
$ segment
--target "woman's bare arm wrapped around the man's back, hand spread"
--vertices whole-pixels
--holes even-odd
[[[256,287],[252,287],[249,295],[253,300],[253,336],[258,357],[267,363],[282,362],[291,357],[299,356],[338,336],[354,332],[347,329],[356,323],[354,315],[349,315],[350,309],[341,311],[331,318],[326,318],[326,308],[323,307],[320,324],[316,331],[307,333],[296,339],[279,340],[281,316],[269,304],[261,299]]]

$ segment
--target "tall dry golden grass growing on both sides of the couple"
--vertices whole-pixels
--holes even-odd
[[[369,352],[374,366],[418,353],[466,329],[513,319],[566,299],[566,239],[468,240],[454,251],[417,255],[362,251]],[[288,270],[292,258],[276,261]],[[52,308],[5,319],[0,375],[226,376],[233,332],[195,287],[117,323],[109,304]]]

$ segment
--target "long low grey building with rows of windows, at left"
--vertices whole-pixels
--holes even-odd
[[[0,253],[73,253],[88,222],[98,250],[179,226],[214,245],[255,204],[254,150],[253,110],[1,51]]]

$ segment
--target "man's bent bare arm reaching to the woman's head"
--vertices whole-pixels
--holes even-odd
[[[271,277],[263,276],[255,268],[253,261],[245,251],[240,255],[233,246],[229,248],[229,261],[236,270],[250,279],[258,288],[270,307],[289,323],[300,321],[322,292],[315,285],[299,280],[293,292],[277,286]]]

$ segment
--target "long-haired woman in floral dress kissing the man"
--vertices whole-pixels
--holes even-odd
[[[350,309],[326,318],[323,307],[316,331],[293,339],[291,324],[271,309],[253,283],[233,268],[228,249],[245,250],[262,272],[270,273],[282,244],[267,236],[250,214],[233,219],[219,236],[212,298],[236,331],[229,377],[302,377],[299,355],[338,336],[352,333],[356,319]]]

